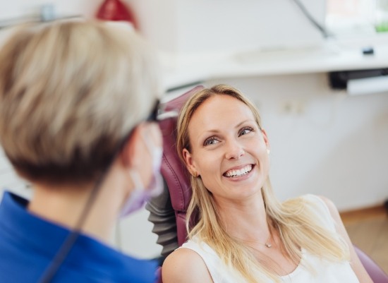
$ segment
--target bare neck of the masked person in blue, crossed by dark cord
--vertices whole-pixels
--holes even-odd
[[[124,196],[123,192],[119,191],[119,186],[111,183],[107,188],[107,182],[104,183],[99,188],[80,230],[101,241],[109,242]],[[34,188],[35,192],[28,210],[70,229],[76,227],[90,195],[94,193],[93,184],[84,186],[35,184]]]

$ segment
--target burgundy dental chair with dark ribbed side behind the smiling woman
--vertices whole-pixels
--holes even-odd
[[[164,192],[150,200],[146,209],[150,211],[148,219],[154,224],[152,231],[158,235],[157,243],[162,246],[161,265],[163,259],[181,246],[187,237],[186,210],[190,203],[191,188],[188,171],[176,153],[176,119],[188,97],[203,88],[202,85],[198,85],[174,100],[166,102],[161,114],[164,115],[164,119],[159,121],[164,150],[161,168]],[[190,221],[195,221],[195,219],[190,219]],[[372,281],[388,283],[388,275],[358,247],[355,246],[355,249]],[[159,272],[161,272],[160,269]],[[159,283],[162,283],[161,276]]]

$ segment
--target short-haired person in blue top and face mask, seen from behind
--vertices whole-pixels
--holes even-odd
[[[1,282],[157,281],[156,261],[110,244],[162,190],[157,69],[139,35],[102,22],[28,25],[1,47],[0,143],[33,190],[2,198]]]

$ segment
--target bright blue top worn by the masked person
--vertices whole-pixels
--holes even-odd
[[[4,193],[0,205],[0,282],[38,282],[71,233],[32,215],[27,205],[28,200]],[[129,257],[81,234],[52,282],[156,281],[156,260]]]

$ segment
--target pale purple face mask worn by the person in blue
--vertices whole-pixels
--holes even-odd
[[[129,171],[131,179],[135,184],[135,188],[126,200],[126,203],[124,203],[121,209],[120,217],[126,217],[132,212],[139,210],[145,205],[145,203],[147,203],[148,200],[150,200],[150,198],[159,195],[163,191],[163,179],[162,174],[160,174],[160,165],[162,164],[163,155],[162,148],[151,147],[148,140],[145,144],[152,155],[152,180],[148,184],[147,188],[145,188],[138,171]]]

